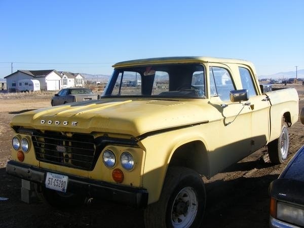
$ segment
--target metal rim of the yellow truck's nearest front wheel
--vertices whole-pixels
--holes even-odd
[[[198,212],[198,196],[194,188],[184,187],[174,199],[171,222],[175,228],[190,227]]]

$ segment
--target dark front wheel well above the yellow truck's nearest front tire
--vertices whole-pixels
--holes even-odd
[[[170,160],[169,166],[182,166],[209,176],[207,150],[202,141],[192,141],[179,146]]]

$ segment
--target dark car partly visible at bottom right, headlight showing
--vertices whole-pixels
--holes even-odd
[[[304,108],[300,111],[304,124]],[[304,146],[269,187],[270,227],[304,227]]]

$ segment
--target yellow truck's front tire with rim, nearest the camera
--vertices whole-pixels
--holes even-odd
[[[185,167],[170,167],[159,201],[144,211],[145,227],[199,227],[205,204],[202,177]]]

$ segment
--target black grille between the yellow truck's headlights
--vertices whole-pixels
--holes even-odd
[[[93,135],[73,134],[63,136],[59,132],[33,134],[36,159],[72,168],[92,170],[96,146]]]

